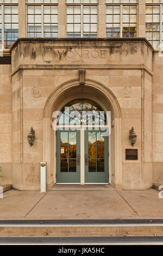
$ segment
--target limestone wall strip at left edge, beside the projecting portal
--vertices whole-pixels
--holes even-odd
[[[0,184],[11,184],[12,169],[12,89],[11,65],[0,65]]]

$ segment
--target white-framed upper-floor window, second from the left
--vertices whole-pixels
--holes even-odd
[[[43,0],[40,3],[27,3],[27,1],[26,1],[26,37],[27,38],[28,38],[28,34],[29,34],[28,33],[28,6],[31,6],[31,7],[41,6],[41,32],[40,33],[41,33],[41,38],[44,38],[44,21],[43,21],[44,11],[43,11],[43,7],[44,6],[50,6],[50,7],[57,6],[57,9],[58,9],[58,5],[59,5],[59,3],[43,3]],[[57,11],[57,16],[58,16],[58,11]],[[35,23],[33,23],[33,24],[35,24]],[[49,23],[49,24],[51,26],[53,23]],[[57,25],[58,25],[58,23],[57,23]],[[35,33],[35,31],[34,31],[34,33]],[[54,32],[54,33],[56,33],[56,32]],[[35,38],[39,38],[39,37],[35,37]],[[58,38],[58,36],[56,38]]]

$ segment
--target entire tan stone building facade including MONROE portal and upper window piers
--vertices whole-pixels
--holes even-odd
[[[135,1],[137,30],[133,38],[124,37],[123,31],[122,36],[108,38],[106,7],[114,7],[114,3],[95,2],[96,38],[68,37],[65,0],[52,4],[58,7],[57,36],[33,38],[28,36],[26,17],[27,7],[32,3],[18,1],[18,39],[13,40],[11,47],[5,47],[4,41],[0,57],[1,184],[12,184],[18,190],[40,190],[41,161],[47,162],[47,189],[66,182],[109,183],[120,190],[146,190],[153,184],[163,184],[163,57],[154,48],[157,44],[154,35],[153,41],[146,39],[147,3]],[[133,2],[125,4],[134,5]],[[153,1],[151,5],[157,3]],[[123,8],[121,3],[120,7]],[[161,3],[159,7],[162,8]],[[111,112],[111,132],[99,145],[98,133],[96,141],[91,142],[87,139],[89,132],[86,135],[79,131],[73,144],[78,148],[76,155],[62,158],[66,147],[69,154],[72,144],[70,141],[60,144],[61,137],[53,129],[53,113],[69,102],[81,100],[86,104],[92,102],[92,106],[99,106],[105,113]],[[35,130],[32,147],[27,139],[31,127]],[[134,146],[129,140],[131,127],[137,135]],[[69,138],[70,131],[66,132],[64,136]],[[94,130],[91,132],[95,135]],[[90,147],[96,148],[95,157],[90,156]],[[99,157],[99,147],[109,154]],[[136,149],[137,160],[127,160],[126,149]],[[60,165],[61,158],[64,167]],[[96,170],[89,173],[92,163]],[[65,172],[63,168],[67,168]]]

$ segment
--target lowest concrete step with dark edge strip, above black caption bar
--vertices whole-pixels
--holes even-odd
[[[163,245],[163,236],[0,237],[0,245]]]

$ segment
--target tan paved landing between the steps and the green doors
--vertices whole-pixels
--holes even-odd
[[[158,193],[152,188],[120,191],[109,185],[85,185],[79,190],[77,185],[57,185],[46,193],[12,189],[0,198],[0,219],[163,218]]]

